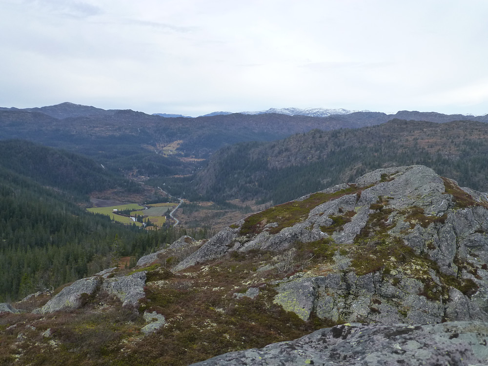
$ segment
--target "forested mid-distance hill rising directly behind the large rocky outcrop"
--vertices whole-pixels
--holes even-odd
[[[367,171],[424,164],[460,185],[488,191],[488,124],[393,120],[360,129],[313,130],[216,153],[188,183],[208,199],[282,203]]]

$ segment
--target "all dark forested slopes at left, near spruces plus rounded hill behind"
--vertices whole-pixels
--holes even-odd
[[[0,142],[0,302],[72,282],[178,236],[114,224],[77,204],[104,189],[141,187],[74,153]]]

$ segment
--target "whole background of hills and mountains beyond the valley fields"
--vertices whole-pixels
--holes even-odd
[[[386,123],[395,119],[407,122]],[[455,121],[464,122],[444,125]],[[479,128],[474,121],[481,122]],[[280,203],[385,164],[437,162],[443,174],[484,189],[484,142],[476,131],[486,122],[488,116],[416,111],[164,118],[61,103],[29,110],[0,108],[0,139],[30,140],[80,153],[113,172],[153,178],[149,182],[155,186],[170,182],[175,195]],[[449,131],[451,126],[456,134]],[[423,130],[431,131],[431,138],[424,138]],[[420,148],[414,140],[422,141],[417,142]],[[476,148],[469,145],[474,141]],[[235,145],[239,142],[247,145]],[[399,154],[396,143],[409,153]],[[459,158],[469,159],[465,166],[476,168],[467,171]]]

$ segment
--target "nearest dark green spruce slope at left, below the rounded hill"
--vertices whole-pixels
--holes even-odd
[[[122,255],[139,257],[177,235],[114,224],[1,168],[0,302],[96,273]]]

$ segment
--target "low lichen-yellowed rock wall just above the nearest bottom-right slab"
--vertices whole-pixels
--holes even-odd
[[[294,276],[297,277],[297,276]],[[434,280],[432,280],[434,281]],[[456,288],[447,301],[427,299],[424,284],[403,278],[397,285],[379,272],[357,276],[353,271],[281,281],[274,303],[308,320],[311,313],[333,322],[434,324],[443,320],[483,320],[480,306]]]

